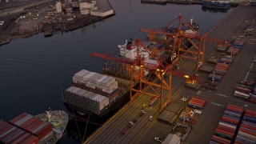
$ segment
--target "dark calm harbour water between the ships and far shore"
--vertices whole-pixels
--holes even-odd
[[[35,115],[48,107],[66,110],[60,90],[71,85],[74,73],[82,69],[102,73],[102,59],[90,57],[90,53],[117,50],[129,38],[145,40],[146,34],[138,31],[141,28],[165,26],[182,14],[186,21],[194,18],[205,33],[231,11],[204,11],[201,5],[141,4],[139,0],[110,3],[116,12],[112,18],[50,38],[38,34],[0,47],[0,119],[9,121],[22,112]],[[69,129],[76,130],[75,126]],[[87,130],[86,135],[92,129]],[[61,140],[74,142],[80,141],[69,134]]]

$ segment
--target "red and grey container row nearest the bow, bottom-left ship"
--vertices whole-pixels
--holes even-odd
[[[18,128],[25,130],[26,132],[35,135],[38,139],[44,138],[46,135],[53,137],[53,126],[44,122],[39,118],[36,118],[30,114],[20,114],[17,117],[10,120],[10,123]]]

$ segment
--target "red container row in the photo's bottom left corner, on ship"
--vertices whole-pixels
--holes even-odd
[[[26,143],[36,144],[38,138],[34,135],[27,133],[7,122],[0,122],[0,143]]]

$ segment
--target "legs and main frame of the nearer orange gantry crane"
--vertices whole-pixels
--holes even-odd
[[[142,47],[144,50],[147,50],[146,46],[143,46],[143,44],[138,39],[135,40],[135,46],[137,48]],[[154,101],[155,98],[158,98],[160,101],[159,112],[162,112],[162,110],[164,110],[164,108],[171,102],[172,75],[174,74],[180,77],[190,78],[190,81],[192,82],[196,80],[196,76],[188,75],[186,73],[183,73],[182,71],[174,70],[174,64],[178,61],[178,57],[174,58],[171,63],[166,63],[161,58],[153,58],[158,62],[156,66],[147,66],[145,62],[142,61],[142,59],[137,62],[137,64],[141,64],[138,65],[140,66],[140,72],[137,74],[138,76],[136,77],[139,81],[138,89],[133,88],[132,86],[134,80],[134,67],[132,66],[130,78],[130,101],[133,102],[139,94],[145,94],[150,96],[150,101]],[[150,70],[150,73],[156,76],[153,81],[151,81],[149,78],[144,77],[143,74],[145,69]],[[165,78],[166,75],[167,78]],[[150,90],[146,90],[145,87],[148,87],[148,89]],[[156,89],[160,89],[160,94]],[[168,93],[166,94],[166,97],[164,96],[165,94],[163,94],[164,90],[166,90]],[[135,94],[133,94],[133,92],[135,92]]]

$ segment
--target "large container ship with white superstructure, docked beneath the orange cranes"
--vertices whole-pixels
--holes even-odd
[[[152,54],[166,59],[164,46],[154,42],[142,43]],[[114,54],[113,58],[132,62],[137,56],[133,39],[126,40],[123,45],[118,45],[118,49],[119,54]],[[154,68],[158,62],[151,59],[150,54],[142,50],[142,47],[139,49],[139,55],[145,58],[144,64]],[[111,111],[118,110],[130,101],[130,70],[131,64],[110,59],[104,61],[103,74],[80,70],[74,74],[72,86],[61,91],[64,105],[71,113],[81,116],[90,115],[92,119],[100,119]],[[134,67],[134,71],[139,72],[140,66]],[[145,70],[144,75],[150,77],[148,74],[149,71]],[[136,81],[131,85],[138,88]]]

